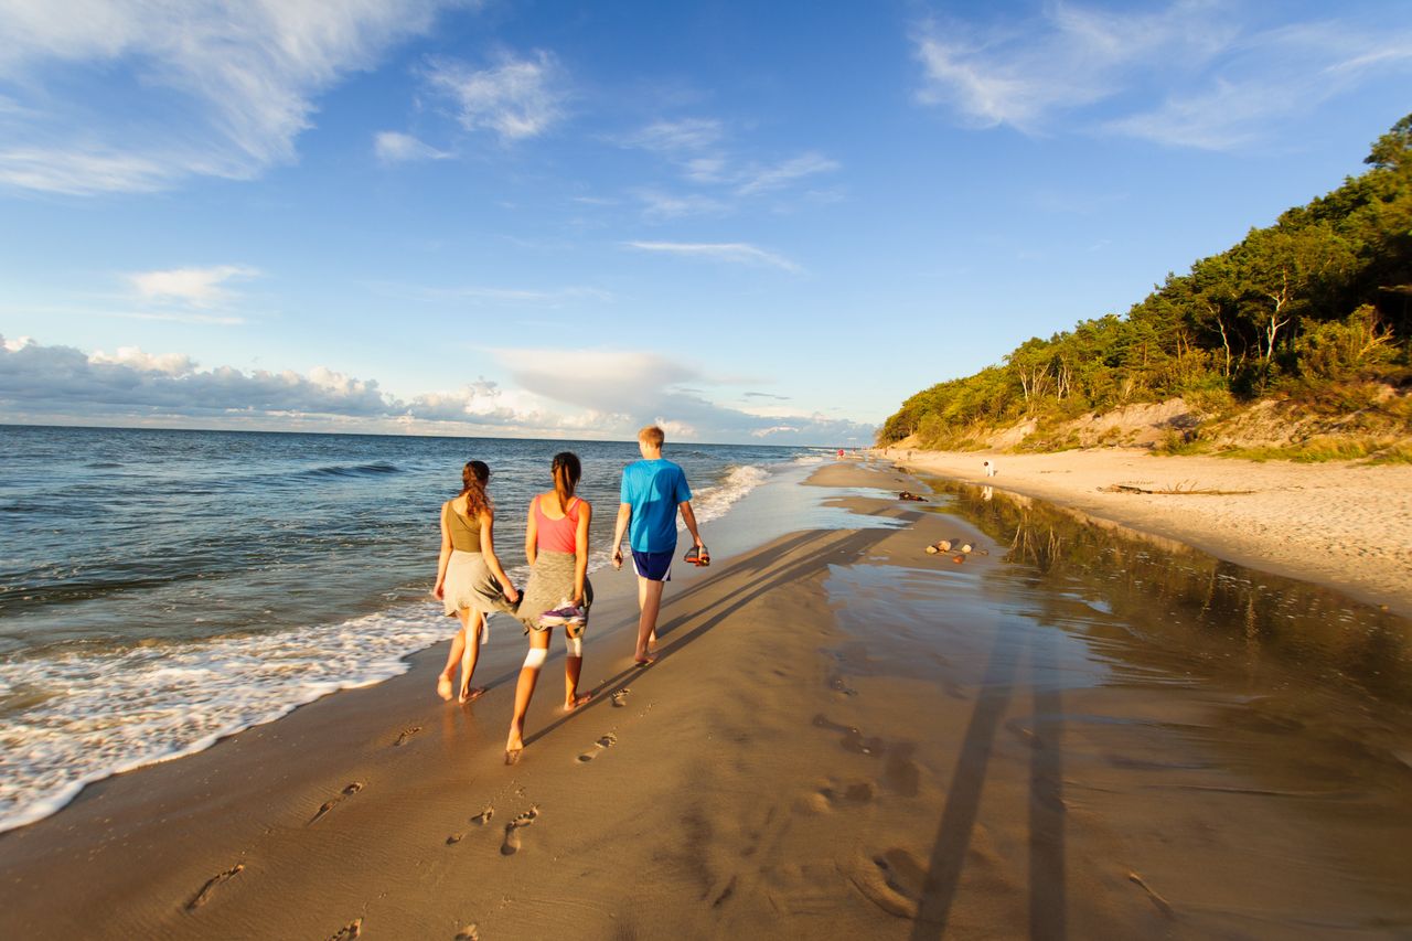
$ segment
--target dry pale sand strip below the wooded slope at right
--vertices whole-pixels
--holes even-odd
[[[880,454],[916,470],[1072,506],[1241,565],[1336,586],[1412,616],[1408,465],[1257,463],[1123,448]],[[986,478],[986,459],[997,463],[995,478]],[[1108,490],[1114,485],[1166,493]]]

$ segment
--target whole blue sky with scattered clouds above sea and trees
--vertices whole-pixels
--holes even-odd
[[[1364,170],[1405,0],[0,0],[0,422],[870,444]]]

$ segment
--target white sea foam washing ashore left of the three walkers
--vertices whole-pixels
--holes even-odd
[[[450,634],[433,605],[299,632],[92,650],[0,664],[0,831],[90,781],[209,747],[336,690],[381,682]]]

